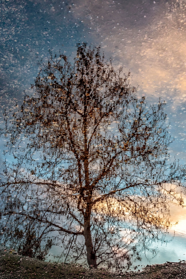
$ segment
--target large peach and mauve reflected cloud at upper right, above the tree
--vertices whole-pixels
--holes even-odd
[[[92,26],[92,37],[101,42],[106,56],[114,57],[115,67],[130,69],[140,94],[166,98],[176,92],[182,97],[186,90],[184,1],[78,1],[74,12],[82,16],[86,30]]]

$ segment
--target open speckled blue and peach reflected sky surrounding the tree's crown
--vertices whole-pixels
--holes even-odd
[[[159,98],[166,101],[169,133],[175,138],[169,149],[170,160],[176,157],[184,164],[185,28],[186,1],[182,0],[0,0],[1,112],[19,107],[24,90],[33,93],[31,84],[40,70],[38,62],[47,61],[49,49],[57,54],[60,49],[73,61],[76,43],[100,45],[115,69],[122,66],[125,73],[131,72],[130,83],[139,85],[138,96],[145,96],[149,105],[156,105]],[[2,116],[0,119],[3,123]],[[170,214],[173,223],[179,221],[170,228],[170,234],[175,230],[183,241],[185,208],[170,205]]]

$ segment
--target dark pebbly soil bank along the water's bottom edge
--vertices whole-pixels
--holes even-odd
[[[186,263],[157,264],[144,268],[141,272],[111,274],[105,269],[85,269],[74,264],[42,262],[29,257],[0,250],[0,279],[108,279],[108,278],[183,278],[186,279]]]

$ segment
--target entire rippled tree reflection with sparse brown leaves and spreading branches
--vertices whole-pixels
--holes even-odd
[[[121,73],[78,45],[73,66],[51,55],[35,94],[5,114],[1,242],[40,259],[60,244],[63,261],[122,268],[170,226],[169,202],[183,198],[167,183],[180,186],[184,169],[167,163],[164,103],[148,107]]]

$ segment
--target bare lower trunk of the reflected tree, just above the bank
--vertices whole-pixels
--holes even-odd
[[[86,216],[84,219],[84,233],[83,236],[85,237],[85,246],[87,250],[87,262],[88,265],[97,268],[96,264],[96,255],[93,250],[93,245],[92,245],[92,235],[90,231],[90,214],[89,216]]]

